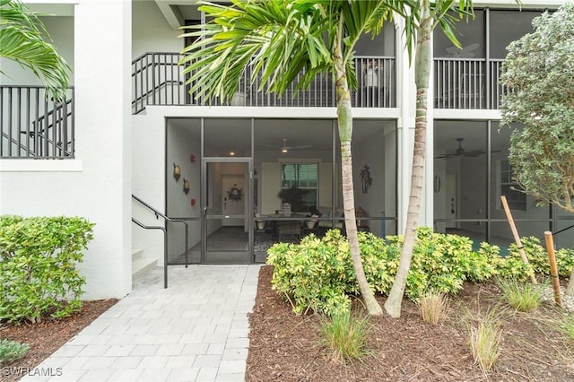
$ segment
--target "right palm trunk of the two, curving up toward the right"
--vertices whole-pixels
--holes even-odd
[[[418,30],[417,51],[414,61],[416,82],[416,122],[414,126],[413,169],[411,174],[411,194],[404,228],[404,243],[401,260],[396,271],[395,282],[385,302],[385,309],[390,317],[401,317],[406,279],[411,269],[414,242],[419,212],[421,210],[422,181],[424,178],[424,151],[427,129],[427,99],[429,75],[431,74],[431,26],[430,9],[423,2],[421,29]]]

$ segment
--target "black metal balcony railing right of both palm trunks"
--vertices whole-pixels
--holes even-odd
[[[434,107],[437,109],[499,109],[503,60],[435,58]]]

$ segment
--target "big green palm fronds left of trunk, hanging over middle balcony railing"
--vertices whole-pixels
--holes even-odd
[[[190,74],[188,83],[196,97],[208,102],[230,100],[247,67],[252,71],[251,82],[260,76],[261,89],[266,86],[279,94],[293,82],[297,90],[309,86],[315,74],[327,72],[326,22],[313,4],[300,4],[203,3],[200,10],[213,22],[188,27],[192,31],[182,37],[194,37],[196,42],[184,49],[186,56],[180,61],[183,72]]]

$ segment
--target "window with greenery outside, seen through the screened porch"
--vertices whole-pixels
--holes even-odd
[[[309,212],[317,207],[317,163],[283,163],[281,197],[293,212]]]

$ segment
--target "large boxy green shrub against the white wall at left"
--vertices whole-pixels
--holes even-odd
[[[78,217],[0,216],[0,319],[38,322],[82,307],[75,268],[93,224]]]

